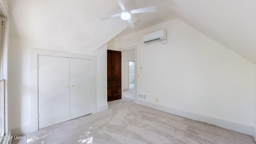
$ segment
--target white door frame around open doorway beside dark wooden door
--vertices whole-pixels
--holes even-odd
[[[119,49],[119,51],[122,52],[122,59],[121,61],[124,61],[124,56],[123,56],[123,52],[126,51],[126,50],[132,50],[134,49],[134,90],[135,90],[135,103],[138,101],[138,54],[137,54],[137,49],[138,49],[138,46],[135,45],[135,46],[130,46],[130,47],[127,47],[127,48],[121,48]],[[122,67],[123,68],[123,67]],[[124,72],[124,70],[122,70],[122,72]],[[123,75],[123,74],[122,74]],[[122,85],[122,98],[124,97],[124,87]]]

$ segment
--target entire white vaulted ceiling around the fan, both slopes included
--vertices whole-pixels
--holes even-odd
[[[126,9],[156,6],[133,14],[135,28],[119,17],[116,0],[9,0],[10,36],[93,52],[122,36],[174,18],[256,64],[256,0],[122,0]]]

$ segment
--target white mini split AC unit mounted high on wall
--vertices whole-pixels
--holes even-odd
[[[153,42],[159,42],[162,40],[162,44],[166,44],[166,30],[164,29],[142,36],[142,42],[144,44],[151,44]]]

